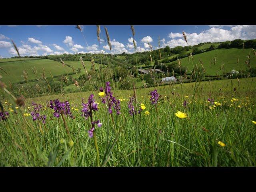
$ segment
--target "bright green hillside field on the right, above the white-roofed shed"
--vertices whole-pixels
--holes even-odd
[[[224,73],[229,72],[233,69],[235,70],[246,70],[247,65],[244,63],[247,59],[248,54],[251,55],[251,66],[256,67],[256,57],[252,49],[216,49],[209,52],[204,52],[201,54],[196,54],[193,56],[194,65],[197,64],[200,66],[200,60],[202,60],[204,64],[204,68],[206,70],[206,74],[209,75],[221,75],[220,65],[224,63]],[[211,59],[216,57],[216,64],[210,65]],[[237,65],[237,57],[239,58],[239,63]],[[173,61],[176,62],[176,61]],[[171,62],[171,63],[173,63]],[[188,57],[181,59],[181,65],[188,67],[188,71],[193,69],[192,62],[188,60]]]

